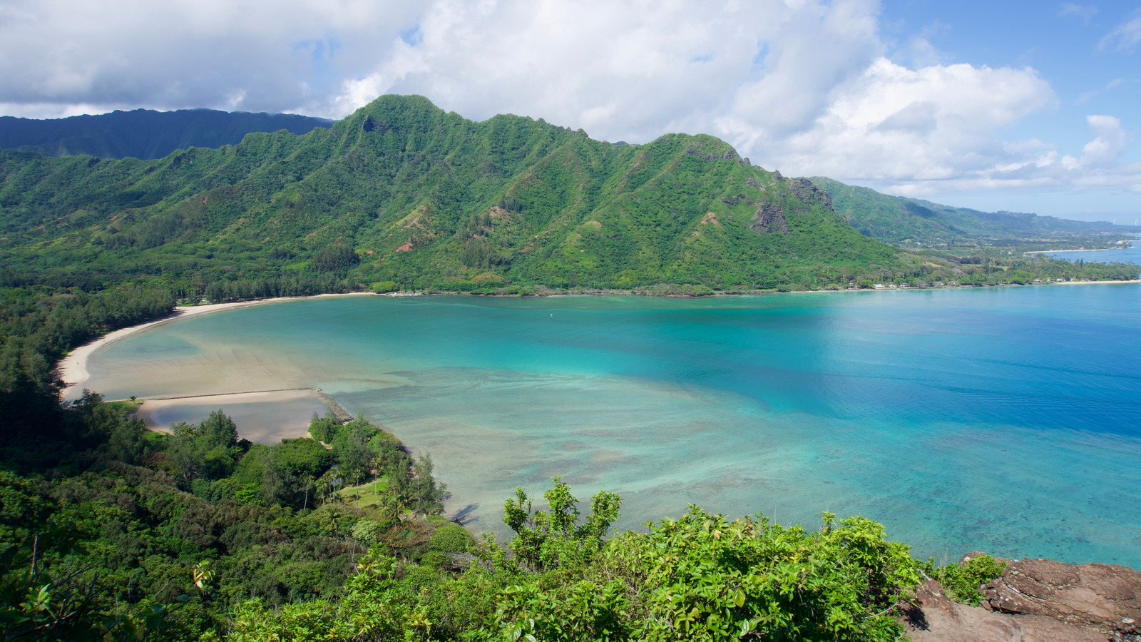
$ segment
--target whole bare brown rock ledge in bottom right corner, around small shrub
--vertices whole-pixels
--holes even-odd
[[[974,556],[972,553],[964,561]],[[915,642],[1141,642],[1141,573],[1117,564],[1003,560],[980,607],[928,580],[905,609]]]

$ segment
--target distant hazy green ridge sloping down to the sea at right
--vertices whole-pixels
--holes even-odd
[[[1106,222],[956,208],[819,176],[810,180],[828,192],[832,207],[861,234],[903,247],[1093,249],[1111,247],[1141,232],[1141,227]]]

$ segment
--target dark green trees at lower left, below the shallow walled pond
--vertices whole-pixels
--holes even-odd
[[[430,459],[413,463],[363,418],[333,422],[330,450],[311,439],[251,444],[220,411],[153,433],[132,410],[86,394],[57,425],[41,422],[37,459],[6,451],[5,640],[195,640],[224,632],[246,600],[345,594],[369,546],[440,567],[439,552],[471,541],[437,516]],[[386,500],[351,503],[349,479],[383,485]]]

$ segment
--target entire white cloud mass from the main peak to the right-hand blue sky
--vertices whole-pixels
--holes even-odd
[[[893,63],[868,0],[442,0],[419,33],[345,83],[339,109],[419,93],[469,118],[541,115],[609,141],[709,131],[785,174],[916,192],[1075,185],[1126,142],[1103,128],[1066,170],[1055,146],[1004,138],[1058,104],[1049,82],[1029,67],[947,65],[936,55],[919,69]]]

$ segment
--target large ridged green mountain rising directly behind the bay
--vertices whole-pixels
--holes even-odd
[[[612,145],[529,118],[472,122],[418,96],[302,136],[152,161],[2,152],[0,167],[0,267],[56,286],[335,274],[444,290],[753,289],[925,265],[711,136]]]

